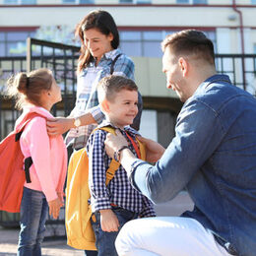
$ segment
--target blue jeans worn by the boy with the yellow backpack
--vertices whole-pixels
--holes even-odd
[[[138,218],[138,214],[122,209],[120,207],[113,207],[112,211],[116,215],[120,224],[119,230],[124,224]],[[114,246],[114,242],[119,230],[116,232],[103,231],[100,225],[99,212],[96,212],[94,215],[96,217],[96,222],[94,222],[91,218],[91,223],[96,234],[97,256],[118,256]]]

